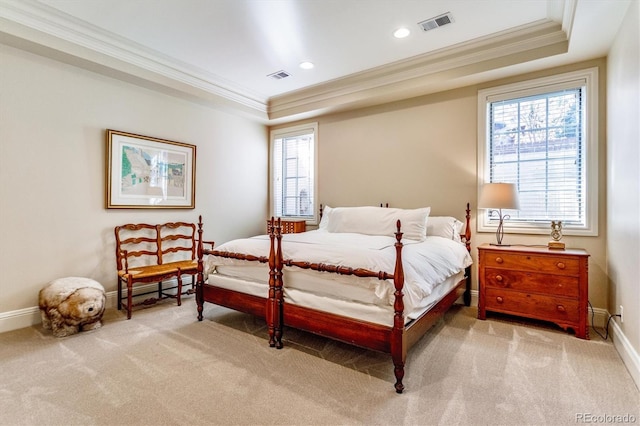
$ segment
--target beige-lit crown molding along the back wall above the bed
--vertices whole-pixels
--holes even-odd
[[[440,90],[443,82],[566,53],[560,23],[544,19],[487,37],[272,97],[269,118],[371,106]]]

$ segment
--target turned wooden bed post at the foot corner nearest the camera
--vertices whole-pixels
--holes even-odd
[[[393,328],[391,329],[391,359],[393,360],[394,373],[396,375],[396,392],[402,393],[404,385],[404,364],[407,357],[407,347],[404,339],[404,269],[402,267],[402,232],[400,232],[400,221],[396,222],[396,267],[393,272],[393,283],[395,286],[395,301],[393,303]]]

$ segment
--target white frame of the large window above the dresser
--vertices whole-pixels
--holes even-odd
[[[531,95],[551,93],[566,88],[584,86],[584,139],[583,167],[585,184],[584,226],[563,224],[564,235],[598,235],[598,68],[578,70],[534,80],[496,86],[478,91],[478,199],[485,182],[490,179],[489,159],[489,106],[492,102]],[[478,232],[495,232],[497,218],[490,217],[487,209],[477,209]],[[535,222],[508,222],[507,234],[549,234],[551,220]],[[557,220],[557,218],[555,218]]]

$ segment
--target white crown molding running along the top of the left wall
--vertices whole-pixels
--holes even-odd
[[[202,69],[169,58],[108,31],[88,25],[45,4],[30,0],[0,0],[0,41],[21,39],[60,53],[54,59],[76,58],[105,69],[184,91],[209,101],[231,101],[266,118],[267,98]],[[43,53],[40,50],[38,53]],[[95,70],[95,69],[94,69]],[[201,92],[201,93],[198,93]],[[225,103],[225,102],[223,102]],[[228,103],[228,102],[226,102]]]

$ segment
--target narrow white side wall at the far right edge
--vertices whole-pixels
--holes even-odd
[[[635,351],[640,384],[640,6],[632,2],[607,60],[607,266],[609,311]],[[618,342],[616,342],[618,345]],[[626,349],[629,351],[629,348]]]

